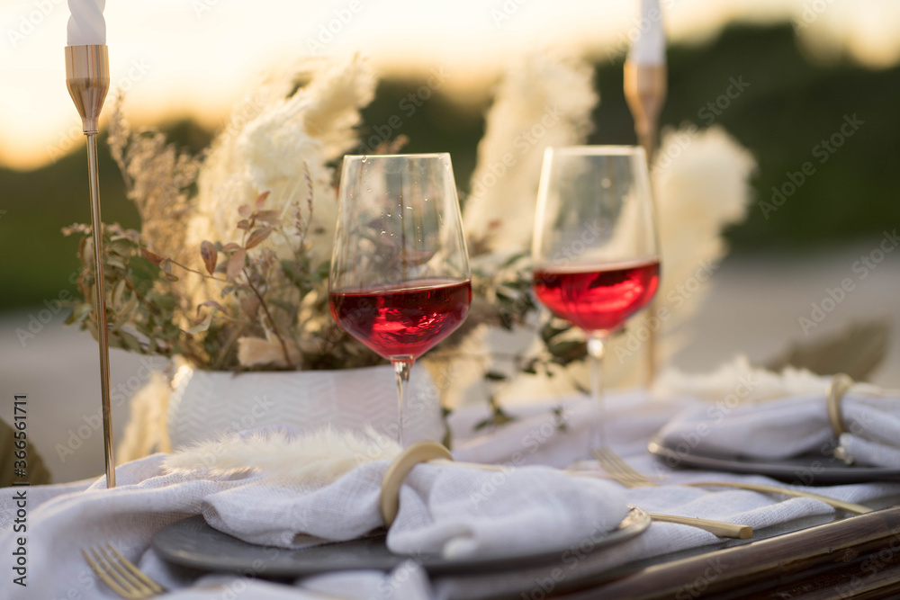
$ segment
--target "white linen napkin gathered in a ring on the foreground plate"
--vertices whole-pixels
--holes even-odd
[[[268,442],[290,456],[304,439],[278,439],[284,435],[270,431]],[[252,483],[204,497],[202,514],[216,529],[250,543],[298,548],[352,540],[383,525],[379,497],[389,465],[366,462],[324,484],[264,472]],[[401,554],[446,558],[563,548],[581,539],[585,524],[608,532],[627,511],[615,484],[556,469],[420,464],[403,482],[387,544]]]

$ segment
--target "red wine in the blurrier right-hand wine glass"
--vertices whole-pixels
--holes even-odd
[[[585,331],[612,332],[643,309],[660,281],[660,261],[540,269],[534,289],[554,315]]]

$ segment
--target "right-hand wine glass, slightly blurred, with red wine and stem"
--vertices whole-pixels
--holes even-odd
[[[532,247],[538,300],[588,337],[594,416],[590,454],[605,446],[603,351],[656,293],[660,254],[644,149],[547,148]]]

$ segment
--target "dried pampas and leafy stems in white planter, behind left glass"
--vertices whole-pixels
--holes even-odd
[[[238,105],[202,157],[178,152],[157,130],[132,131],[117,103],[110,147],[141,229],[103,229],[110,344],[179,354],[210,370],[381,363],[331,318],[327,289],[334,165],[358,145],[359,110],[374,85],[359,57],[292,65]],[[95,335],[90,228],[65,233],[82,237],[84,267],[83,300],[68,322]],[[473,261],[475,299],[465,331],[514,327],[535,309],[520,256],[498,265],[479,254],[491,268]]]

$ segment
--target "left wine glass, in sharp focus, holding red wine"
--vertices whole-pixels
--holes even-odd
[[[391,361],[401,446],[412,365],[463,323],[471,301],[450,155],[344,157],[329,304],[344,331]]]

